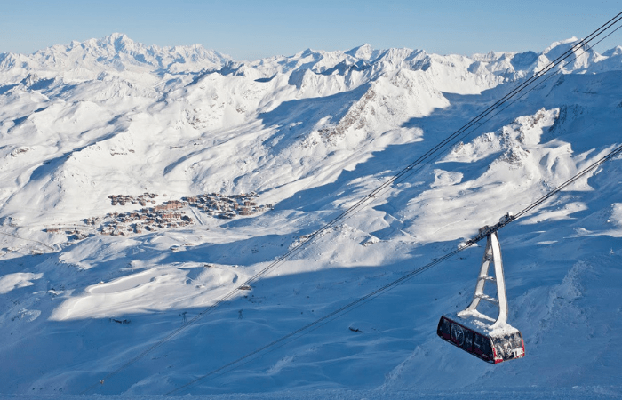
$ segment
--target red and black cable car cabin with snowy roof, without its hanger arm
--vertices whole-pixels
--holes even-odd
[[[477,322],[480,322],[479,319]],[[462,319],[456,314],[441,316],[436,329],[441,339],[490,364],[525,356],[525,345],[518,329],[506,325],[505,329],[495,331],[477,328],[474,321]]]

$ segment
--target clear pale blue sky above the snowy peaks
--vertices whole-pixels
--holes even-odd
[[[621,2],[600,0],[0,0],[0,52],[113,32],[143,44],[203,44],[235,60],[365,43],[440,54],[541,51],[618,12]],[[604,47],[622,44],[621,32]]]

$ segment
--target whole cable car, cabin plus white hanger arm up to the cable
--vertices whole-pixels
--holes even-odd
[[[459,313],[441,316],[436,333],[441,339],[462,348],[467,353],[482,358],[490,364],[513,360],[525,356],[525,345],[521,332],[507,324],[506,282],[503,276],[501,248],[498,244],[497,230],[512,220],[507,214],[494,227],[480,229],[479,237],[486,236],[486,251],[482,268],[477,277],[471,304]],[[490,262],[495,265],[495,276],[489,276]],[[497,284],[497,299],[484,293],[487,282]],[[480,302],[488,301],[498,305],[497,319],[486,316],[477,310]]]

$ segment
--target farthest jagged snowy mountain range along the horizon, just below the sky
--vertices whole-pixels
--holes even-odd
[[[546,54],[554,51],[555,49],[558,49],[557,51],[559,52],[560,47],[576,42],[578,42],[578,39],[572,37],[570,39],[551,44],[545,51],[537,54],[538,57],[544,56],[546,58],[546,60],[542,60],[538,65],[541,66],[547,62],[547,60],[552,60],[554,58],[554,54],[551,58],[546,57]],[[591,54],[591,50],[588,51],[588,53]],[[615,53],[615,49],[610,49],[610,51],[604,53],[617,55],[617,53]],[[197,73],[202,70],[217,71],[227,65],[260,68],[262,64],[267,63],[273,66],[272,68],[281,65],[281,71],[286,72],[288,69],[292,68],[291,62],[293,60],[305,60],[312,54],[315,54],[314,57],[317,59],[313,67],[316,73],[323,73],[326,69],[334,68],[337,64],[342,62],[345,62],[346,64],[353,64],[354,66],[356,66],[357,62],[363,62],[369,65],[383,63],[385,67],[391,65],[399,67],[399,65],[404,62],[406,63],[404,66],[417,69],[420,68],[421,65],[429,65],[430,61],[451,64],[451,62],[454,62],[455,60],[468,59],[474,60],[475,62],[489,63],[491,64],[491,68],[489,69],[493,71],[503,67],[505,70],[510,69],[515,73],[522,71],[522,74],[524,75],[533,72],[530,71],[530,69],[533,69],[535,61],[532,60],[533,52],[476,53],[470,57],[451,54],[441,56],[436,54],[428,55],[427,52],[422,50],[411,50],[406,48],[375,50],[371,48],[370,44],[363,44],[347,51],[316,52],[307,49],[306,51],[299,52],[289,57],[275,56],[260,60],[235,61],[222,53],[207,50],[200,44],[172,47],[159,47],[157,45],[147,46],[133,41],[130,37],[124,34],[115,33],[100,39],[88,39],[84,42],[74,41],[69,44],[54,45],[46,49],[36,51],[30,55],[16,54],[12,52],[0,53],[0,70],[3,70],[4,74],[6,74],[12,69],[35,70],[36,68],[93,68],[94,66],[99,65],[100,68],[108,67],[108,69],[112,70],[142,66],[151,68],[151,72],[179,74],[182,72]],[[359,54],[359,56],[357,56],[357,54]],[[514,57],[520,58],[522,61],[514,62],[513,65],[511,61]],[[602,57],[609,57],[609,55],[602,55]],[[424,61],[423,64],[421,64],[420,61],[426,58],[427,62]],[[504,60],[507,62],[501,62]],[[525,64],[526,60],[530,60],[531,62],[527,62],[527,64]],[[300,61],[297,62],[298,66],[293,66],[293,68],[300,68],[301,64],[299,64],[299,62]],[[510,65],[507,65],[507,63]],[[499,64],[500,66],[495,64]],[[581,64],[581,66],[585,67],[584,64]],[[519,70],[514,69],[514,67],[519,66],[522,68]],[[581,68],[581,66],[575,65],[573,66],[573,69]],[[24,71],[21,71],[21,73],[23,75]],[[22,79],[24,77],[25,76],[22,76]],[[6,78],[4,78],[4,80],[6,81]]]

